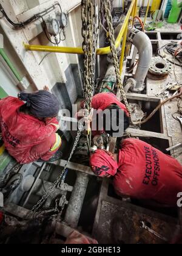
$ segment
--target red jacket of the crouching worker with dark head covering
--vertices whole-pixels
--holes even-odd
[[[56,141],[58,120],[48,123],[19,112],[24,102],[7,97],[0,100],[0,130],[5,148],[19,163],[35,162],[39,158],[49,160],[55,153],[50,152]]]

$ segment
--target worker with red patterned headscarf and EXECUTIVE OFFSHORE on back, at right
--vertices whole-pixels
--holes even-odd
[[[97,176],[113,176],[113,187],[119,196],[177,206],[177,194],[182,191],[182,166],[150,144],[128,138],[121,143],[118,155],[95,151],[90,166]]]

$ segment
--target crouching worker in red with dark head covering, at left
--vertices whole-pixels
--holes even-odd
[[[58,112],[58,99],[46,87],[1,99],[0,132],[9,154],[21,164],[61,158]]]

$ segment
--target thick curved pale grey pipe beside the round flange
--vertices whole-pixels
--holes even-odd
[[[152,60],[152,43],[144,32],[132,26],[129,26],[127,40],[136,46],[139,54],[138,66],[134,76],[136,85],[133,91],[142,91],[144,90],[144,80],[146,79]]]

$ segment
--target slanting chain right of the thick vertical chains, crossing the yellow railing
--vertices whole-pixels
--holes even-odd
[[[118,88],[120,88],[121,91],[121,95],[123,96],[123,101],[124,104],[126,105],[126,108],[131,116],[131,110],[130,110],[130,106],[127,102],[127,98],[126,98],[126,94],[123,88],[123,84],[121,81],[121,75],[120,75],[120,66],[118,63],[118,56],[117,56],[117,52],[116,52],[116,47],[115,47],[115,37],[114,37],[114,30],[113,30],[113,26],[112,26],[112,15],[111,15],[111,6],[110,6],[110,0],[103,0],[101,1],[101,12],[103,11],[104,13],[104,18],[106,19],[106,23],[107,23],[107,30],[108,30],[108,40],[110,43],[110,50],[112,52],[112,59],[113,59],[113,65],[115,67],[115,73],[116,73],[116,80],[118,83]]]

